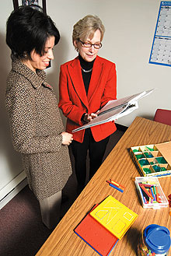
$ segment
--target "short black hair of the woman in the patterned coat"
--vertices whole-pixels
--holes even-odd
[[[6,23],[6,44],[16,58],[30,58],[33,49],[42,56],[51,36],[55,37],[54,44],[58,44],[60,33],[50,16],[30,6],[19,6]]]

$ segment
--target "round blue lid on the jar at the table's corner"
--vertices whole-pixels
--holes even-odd
[[[145,228],[143,237],[148,249],[155,254],[164,254],[169,251],[171,240],[166,226],[149,225]]]

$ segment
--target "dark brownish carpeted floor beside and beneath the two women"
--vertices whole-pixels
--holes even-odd
[[[124,131],[117,130],[110,136],[104,159],[123,134]],[[70,155],[74,166],[71,151]],[[63,190],[69,200],[61,205],[61,217],[75,201],[76,188],[77,182],[73,172]],[[0,211],[0,256],[33,256],[51,232],[52,230],[48,230],[41,222],[39,203],[27,185]]]

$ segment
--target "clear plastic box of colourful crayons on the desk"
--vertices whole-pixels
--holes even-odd
[[[169,205],[157,177],[135,177],[134,183],[138,189],[143,208],[161,209]]]

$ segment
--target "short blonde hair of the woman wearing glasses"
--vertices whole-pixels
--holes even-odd
[[[92,39],[96,30],[100,31],[100,40],[102,41],[105,27],[98,16],[87,15],[84,18],[79,19],[79,21],[73,26],[72,43],[74,44],[74,41],[79,39],[82,41],[86,41],[87,38]]]

